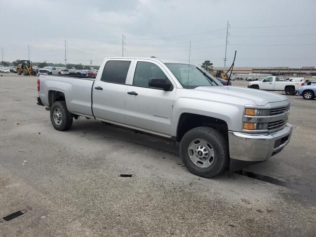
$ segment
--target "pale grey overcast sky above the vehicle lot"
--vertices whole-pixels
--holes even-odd
[[[316,66],[316,0],[0,0],[3,60],[100,65],[156,56],[227,65]]]

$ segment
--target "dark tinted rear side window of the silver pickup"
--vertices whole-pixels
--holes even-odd
[[[108,61],[105,64],[101,80],[125,84],[130,62],[131,61]]]

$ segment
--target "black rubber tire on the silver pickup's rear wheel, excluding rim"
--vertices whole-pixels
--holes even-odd
[[[60,112],[61,119],[60,122],[57,123],[54,120],[54,113]],[[66,102],[65,101],[55,101],[50,108],[50,121],[53,127],[58,131],[66,131],[68,130],[71,125],[73,124],[73,118],[69,113]]]

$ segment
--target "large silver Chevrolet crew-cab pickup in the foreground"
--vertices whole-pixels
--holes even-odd
[[[83,116],[168,138],[202,177],[265,161],[292,132],[285,96],[223,86],[195,65],[153,58],[107,58],[95,79],[40,75],[38,91],[55,129]]]

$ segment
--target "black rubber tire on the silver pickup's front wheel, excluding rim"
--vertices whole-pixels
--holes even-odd
[[[195,164],[189,156],[189,153],[192,151],[189,149],[190,144],[194,140],[198,139],[205,140],[214,151],[214,157],[212,159],[211,165],[205,168],[198,167],[197,164]],[[182,162],[190,172],[201,177],[211,178],[222,173],[228,167],[228,142],[223,134],[215,130],[214,128],[196,127],[189,130],[181,139],[180,155],[182,158]],[[197,162],[202,163],[201,161]]]

